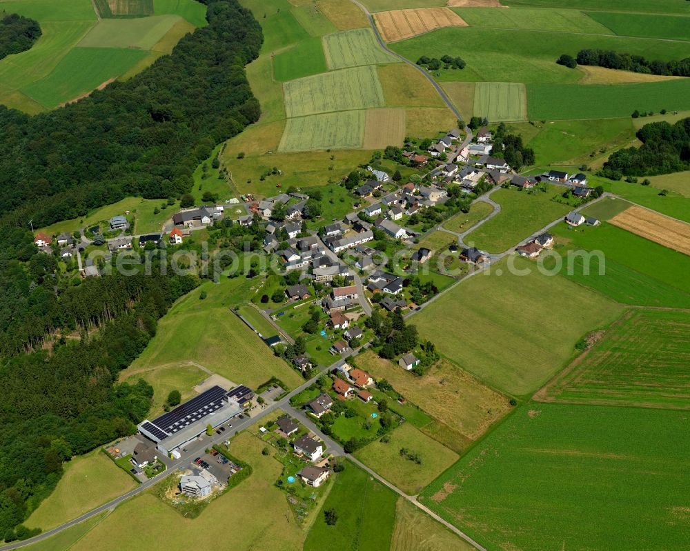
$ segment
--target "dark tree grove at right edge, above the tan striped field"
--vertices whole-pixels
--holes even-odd
[[[645,124],[637,132],[639,148],[611,154],[599,174],[614,180],[623,176],[653,176],[690,169],[690,117],[671,125]]]

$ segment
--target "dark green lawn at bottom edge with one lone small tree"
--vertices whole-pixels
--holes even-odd
[[[333,489],[309,530],[304,551],[324,549],[381,551],[390,548],[397,495],[349,461],[335,474]],[[335,509],[337,523],[324,522]]]

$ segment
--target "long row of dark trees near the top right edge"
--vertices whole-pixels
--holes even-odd
[[[690,57],[680,59],[680,61],[662,61],[661,59],[647,59],[641,55],[619,54],[613,50],[588,48],[580,50],[575,58],[569,54],[562,54],[556,63],[571,69],[580,64],[646,74],[672,74],[678,77],[690,77]]]

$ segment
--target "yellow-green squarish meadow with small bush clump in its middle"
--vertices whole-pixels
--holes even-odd
[[[386,443],[378,439],[367,444],[355,457],[408,495],[420,493],[458,458],[455,452],[410,423],[402,423],[388,437]],[[402,448],[418,454],[422,463],[404,457],[400,453]]]

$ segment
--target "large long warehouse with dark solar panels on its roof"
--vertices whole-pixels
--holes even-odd
[[[230,391],[215,385],[152,421],[144,420],[139,432],[169,455],[206,432],[207,425],[216,428],[242,413],[253,397],[252,390],[244,385]]]

